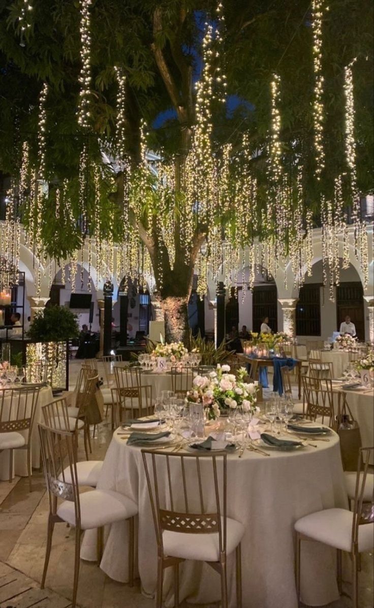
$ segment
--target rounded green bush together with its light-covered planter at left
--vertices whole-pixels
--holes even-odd
[[[27,381],[68,389],[68,340],[79,336],[77,315],[65,306],[48,306],[35,314],[27,336]]]

